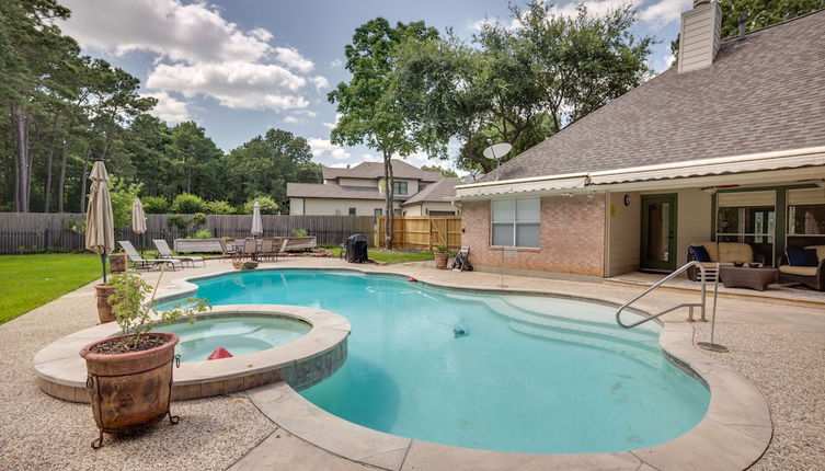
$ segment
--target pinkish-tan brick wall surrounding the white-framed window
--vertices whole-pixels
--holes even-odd
[[[538,249],[507,251],[490,246],[490,202],[465,202],[461,210],[462,245],[470,246],[470,263],[514,269],[604,276],[605,195],[541,198]]]

